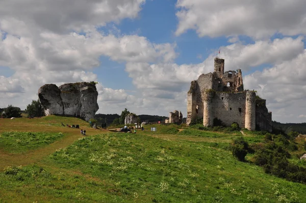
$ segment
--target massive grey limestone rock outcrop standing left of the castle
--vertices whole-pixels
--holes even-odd
[[[88,121],[99,109],[96,87],[86,82],[68,83],[60,87],[46,84],[39,88],[38,97],[46,115],[71,115]]]

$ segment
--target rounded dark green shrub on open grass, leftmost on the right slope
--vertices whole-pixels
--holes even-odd
[[[247,141],[245,141],[243,137],[238,137],[233,140],[231,145],[233,156],[238,158],[239,161],[245,161],[248,150]]]

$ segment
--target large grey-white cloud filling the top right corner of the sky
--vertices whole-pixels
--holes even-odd
[[[200,37],[306,34],[304,0],[177,0],[176,7],[176,35],[189,29]]]

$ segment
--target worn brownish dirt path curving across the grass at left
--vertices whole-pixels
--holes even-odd
[[[54,129],[55,130],[55,129]],[[53,129],[49,129],[49,132],[54,132]],[[59,132],[58,130],[56,132]],[[33,149],[22,154],[9,154],[6,151],[0,150],[0,170],[3,170],[7,166],[13,165],[28,165],[39,162],[42,158],[54,153],[55,150],[64,148],[80,137],[84,137],[79,132],[79,129],[63,128],[61,132],[65,135],[62,139],[48,144],[38,149]],[[88,132],[88,131],[87,131]],[[107,133],[107,130],[92,130],[86,133],[86,136]]]

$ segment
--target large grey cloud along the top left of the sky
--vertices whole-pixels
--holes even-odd
[[[19,36],[29,32],[27,27],[54,33],[88,30],[110,21],[135,18],[144,3],[145,0],[1,1],[1,28]]]

